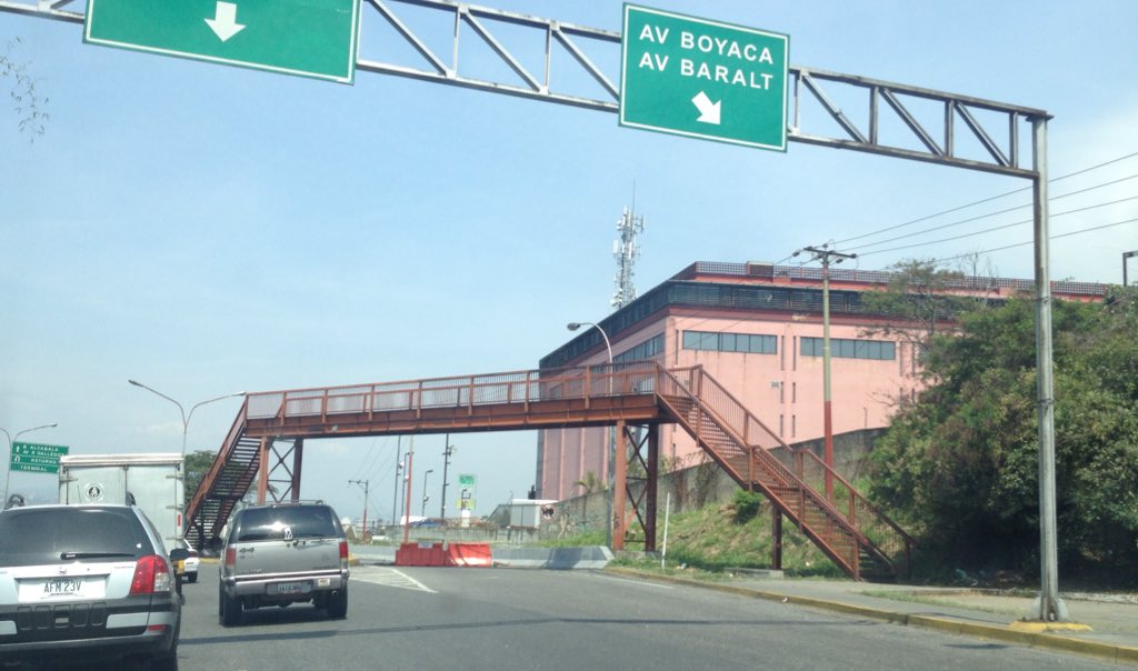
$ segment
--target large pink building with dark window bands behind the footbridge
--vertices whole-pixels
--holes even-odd
[[[831,268],[833,431],[885,426],[902,399],[920,389],[920,353],[904,337],[869,334],[896,317],[869,314],[863,296],[890,273]],[[965,277],[951,293],[1006,298],[1033,291],[1028,280]],[[1100,300],[1106,287],[1055,282],[1056,298]],[[786,442],[823,436],[822,271],[772,264],[699,262],[600,322],[615,362],[654,359],[667,368],[701,365]],[[596,329],[541,361],[542,368],[608,361]],[[555,429],[538,434],[537,495],[563,500],[580,481],[608,481],[608,429]],[[701,454],[676,425],[660,428],[660,454],[691,465]]]

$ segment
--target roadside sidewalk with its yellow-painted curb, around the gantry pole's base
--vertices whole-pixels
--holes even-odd
[[[714,582],[608,571],[1138,665],[1138,604],[1121,597],[1061,594],[1071,622],[1045,624],[1030,622],[1031,597],[995,590],[745,575]]]

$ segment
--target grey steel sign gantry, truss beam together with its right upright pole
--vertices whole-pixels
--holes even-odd
[[[0,0],[0,11],[14,11],[31,16],[40,16],[57,20],[83,23],[85,16],[64,9],[74,0]],[[90,0],[88,11],[91,6],[112,0]],[[114,0],[126,2],[127,0]],[[135,0],[139,5],[143,0]],[[167,0],[147,0],[147,5],[165,3]],[[244,23],[240,1],[234,10],[233,22],[229,20],[229,9],[221,11],[218,17],[218,2],[214,2],[214,20],[222,24]],[[312,0],[313,2],[318,0]],[[344,0],[353,7],[358,7],[364,0]],[[195,3],[205,0],[192,0]],[[422,81],[464,86],[494,93],[505,93],[534,100],[571,105],[586,109],[597,109],[604,111],[619,111],[621,90],[615,85],[603,68],[597,67],[589,57],[587,49],[582,48],[579,42],[599,43],[621,43],[628,35],[621,35],[613,31],[603,31],[586,26],[572,25],[560,20],[537,18],[529,15],[478,7],[467,2],[454,0],[366,0],[379,15],[385,18],[390,26],[405,40],[417,52],[426,65],[409,66],[405,64],[393,64],[380,60],[372,60],[357,56],[355,66],[369,72],[411,77]],[[178,5],[179,2],[171,2]],[[206,2],[208,5],[208,2]],[[391,9],[391,5],[411,5],[427,9],[439,10],[445,15],[446,23],[444,30],[452,34],[452,49],[450,59],[439,57],[428,45],[427,41],[419,38],[415,32],[403,22]],[[282,8],[282,11],[290,13],[298,9],[297,3],[280,2],[273,3]],[[200,14],[200,13],[199,13]],[[201,17],[204,22],[208,14]],[[544,76],[535,75],[523,65],[522,59],[514,57],[504,43],[494,36],[489,24],[505,24],[510,26],[521,26],[542,31],[545,36],[545,63]],[[502,63],[510,72],[517,75],[517,80],[511,81],[487,81],[477,76],[468,76],[463,73],[460,64],[462,26],[469,26],[478,38],[502,59]],[[231,32],[230,30],[223,32]],[[653,33],[655,34],[655,33]],[[714,38],[712,38],[714,40]],[[569,53],[584,72],[589,75],[609,98],[600,99],[589,94],[577,94],[563,92],[554,85],[551,63],[554,55],[554,44],[560,44]],[[151,49],[155,50],[155,49]],[[187,53],[189,55],[189,53]],[[665,56],[660,53],[661,58]],[[191,56],[192,57],[192,56]],[[199,55],[204,60],[220,60],[211,55]],[[642,56],[643,57],[643,56]],[[653,57],[654,59],[654,57]],[[772,61],[774,56],[772,53]],[[253,66],[251,64],[248,64]],[[715,64],[709,64],[709,68]],[[718,64],[725,67],[726,64]],[[265,69],[273,69],[267,67]],[[715,72],[709,69],[709,72]],[[1033,214],[1034,214],[1034,267],[1036,267],[1036,357],[1037,357],[1037,414],[1039,417],[1039,505],[1040,505],[1040,574],[1041,594],[1038,599],[1039,619],[1065,620],[1067,619],[1066,607],[1058,596],[1058,560],[1056,542],[1056,497],[1055,497],[1055,396],[1054,396],[1054,371],[1053,371],[1053,338],[1052,338],[1052,283],[1049,270],[1048,249],[1048,210],[1047,210],[1047,122],[1050,115],[1045,110],[1008,105],[992,100],[983,100],[955,93],[933,91],[918,86],[897,84],[879,80],[869,80],[857,75],[846,75],[839,73],[823,72],[802,67],[787,67],[792,88],[787,93],[787,114],[790,118],[786,126],[786,139],[815,144],[820,147],[832,147],[835,149],[851,149],[865,151],[894,158],[907,158],[935,163],[946,166],[964,167],[968,169],[983,171],[995,174],[1009,175],[1030,180],[1032,183]],[[728,80],[734,75],[728,74]],[[715,75],[712,75],[712,80]],[[852,88],[859,92],[866,92],[864,97],[867,108],[863,109],[863,117],[851,117],[838,107],[824,90],[825,85],[836,85],[840,88]],[[808,93],[808,94],[807,94]],[[704,92],[707,101],[699,97],[696,92],[693,98],[699,102],[693,102],[700,108],[700,115],[704,117],[704,123],[709,125],[715,118],[715,100],[711,93]],[[930,122],[923,119],[921,115],[910,110],[910,100],[918,100],[922,103],[933,103],[942,107],[942,114],[938,121]],[[840,130],[834,133],[828,130],[811,130],[818,122],[807,118],[807,106],[816,102],[816,110],[820,107],[822,114],[817,118],[823,119],[823,124],[833,123]],[[884,105],[882,105],[884,102]],[[908,129],[909,134],[902,141],[887,141],[883,139],[882,114],[883,109],[892,109],[896,119]],[[976,114],[976,113],[982,114]],[[723,108],[718,113],[720,124],[723,121]],[[931,124],[932,131],[930,131]],[[662,126],[662,124],[661,124]],[[1021,161],[1020,135],[1023,127],[1028,127],[1031,138],[1031,165],[1023,165]],[[683,129],[681,129],[682,131]],[[728,141],[728,138],[721,138]],[[962,141],[964,140],[964,141]],[[971,146],[966,147],[965,144]],[[978,149],[976,149],[978,148]],[[619,487],[619,483],[618,483]]]

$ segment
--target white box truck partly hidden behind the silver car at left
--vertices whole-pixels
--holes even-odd
[[[59,457],[59,503],[134,504],[154,523],[166,550],[182,538],[184,459],[178,453]]]

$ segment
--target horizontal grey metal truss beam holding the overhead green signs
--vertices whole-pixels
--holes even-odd
[[[607,74],[619,74],[619,58],[615,59],[617,61],[607,63],[607,67],[602,68],[589,57],[589,53],[599,48],[619,45],[621,34],[618,32],[454,0],[365,0],[365,2],[374,9],[378,17],[390,25],[412,51],[421,57],[421,60],[413,64],[390,63],[369,58],[361,52],[356,59],[356,67],[361,71],[585,109],[619,111],[620,90],[613,83],[617,77]],[[72,0],[35,2],[0,0],[0,11],[82,23],[84,19],[82,14],[61,9],[69,3]],[[428,45],[428,40],[423,38],[424,33],[411,27],[407,20],[410,17],[397,11],[396,6],[401,9],[415,7],[431,11],[432,18],[438,22],[432,26],[431,35],[451,35],[450,57],[443,57],[434,51]],[[543,39],[545,53],[541,73],[531,72],[523,65],[527,59],[510,50],[503,35],[503,32],[508,32],[503,28],[508,26],[528,31],[535,38]],[[483,60],[478,55],[473,58],[462,58],[469,51],[463,49],[465,43],[463,38],[471,34],[477,38],[476,42],[490,49],[504,66],[503,72],[513,73],[513,77],[503,76],[500,81],[494,81],[465,74],[468,63]],[[561,60],[556,59],[560,53],[554,48],[555,44],[568,53],[569,58],[563,60],[574,64],[576,73],[560,77],[561,72],[570,71],[558,69]],[[1028,132],[1031,124],[1050,118],[1050,115],[1041,109],[807,67],[792,66],[790,73],[793,90],[790,94],[789,118],[792,121],[786,132],[789,140],[793,142],[1016,177],[1038,176],[1033,161],[1022,160],[1020,157],[1019,136],[1021,132]],[[559,75],[556,81],[554,74]],[[584,81],[594,82],[603,94],[597,94],[593,90],[580,91],[584,86],[580,83],[582,74],[586,75]],[[856,114],[842,110],[834,102],[836,96],[843,99],[851,96],[859,98]],[[882,114],[882,100],[891,110],[891,115]],[[941,108],[942,114],[934,115],[938,116],[935,119],[927,118],[927,114],[922,118],[910,108],[914,101],[923,101],[925,105],[931,101]],[[816,109],[820,109],[822,114],[809,114]],[[860,123],[851,116],[861,119]],[[840,133],[826,132],[826,126],[831,122],[836,124]],[[893,130],[891,123],[907,132],[892,142],[885,142],[882,139],[882,131],[883,127]],[[972,146],[970,150],[962,148],[962,140],[965,139]],[[979,149],[975,149],[976,147]]]

